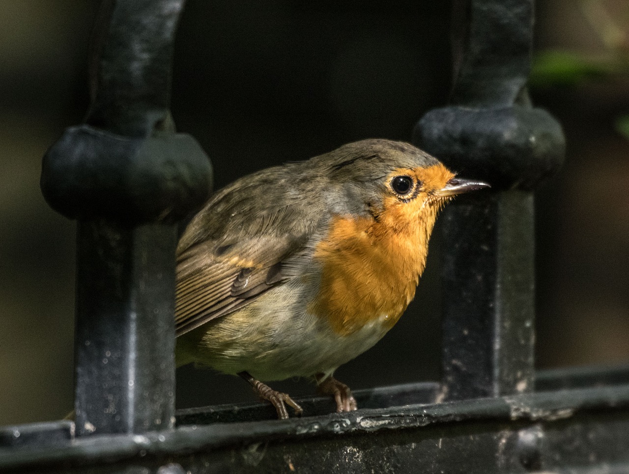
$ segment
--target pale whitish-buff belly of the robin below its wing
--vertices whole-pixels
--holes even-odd
[[[225,374],[247,371],[264,381],[331,374],[376,344],[390,328],[383,315],[350,335],[340,335],[299,303],[285,301],[278,312],[277,301],[270,298],[274,295],[204,326],[192,360]]]

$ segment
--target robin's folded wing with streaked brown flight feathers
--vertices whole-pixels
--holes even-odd
[[[265,236],[216,249],[202,242],[182,252],[177,259],[177,336],[282,284],[294,274],[290,261],[303,250],[303,238]]]

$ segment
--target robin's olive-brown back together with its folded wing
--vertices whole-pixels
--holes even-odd
[[[312,204],[320,186],[315,193],[309,180],[296,180],[301,166],[245,176],[192,219],[177,247],[178,336],[309,271],[313,236],[329,217]],[[294,191],[288,202],[287,185]]]

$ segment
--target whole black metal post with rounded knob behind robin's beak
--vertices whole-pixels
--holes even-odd
[[[443,221],[445,398],[533,389],[532,190],[564,154],[559,124],[528,100],[532,0],[454,0],[451,104],[413,141],[493,193],[450,205]]]

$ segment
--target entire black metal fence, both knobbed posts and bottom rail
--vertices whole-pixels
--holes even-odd
[[[183,0],[104,0],[86,123],[43,162],[78,226],[75,421],[0,430],[0,469],[179,472],[629,472],[629,370],[533,367],[533,194],[562,161],[528,100],[532,0],[454,0],[454,89],[413,141],[494,192],[442,219],[443,380],[301,401],[174,410],[177,222],[209,161],[170,119]]]

